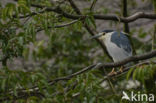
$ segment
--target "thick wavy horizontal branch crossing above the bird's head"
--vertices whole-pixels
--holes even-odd
[[[32,7],[36,7],[36,8],[45,8],[44,11],[41,11],[40,13],[44,13],[44,12],[55,12],[58,14],[62,14],[64,17],[69,18],[69,19],[79,19],[79,18],[86,18],[88,17],[88,15],[74,15],[74,14],[69,14],[65,11],[63,11],[60,7],[46,7],[43,5],[38,5],[38,4],[31,4]],[[77,11],[79,12],[79,11]],[[20,16],[20,18],[25,18],[28,16],[33,16],[36,15],[37,13],[32,13],[26,16]],[[155,13],[144,13],[144,12],[137,12],[131,16],[128,17],[118,17],[117,15],[102,15],[102,14],[94,14],[93,17],[95,19],[99,19],[99,20],[112,20],[112,21],[119,21],[120,22],[124,22],[124,23],[129,23],[129,22],[133,22],[137,19],[141,19],[141,18],[145,18],[145,19],[156,19],[156,14]]]

